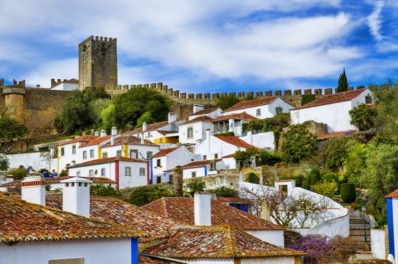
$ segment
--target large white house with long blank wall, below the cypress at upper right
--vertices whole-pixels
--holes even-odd
[[[355,130],[349,111],[360,104],[372,102],[373,93],[366,88],[325,95],[290,111],[291,124],[305,121],[327,124],[327,132]]]

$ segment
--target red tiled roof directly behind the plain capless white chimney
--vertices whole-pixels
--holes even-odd
[[[194,198],[163,197],[141,206],[163,217],[190,225],[195,224]],[[228,224],[240,230],[282,230],[283,228],[257,216],[245,213],[217,200],[211,200],[211,225]]]

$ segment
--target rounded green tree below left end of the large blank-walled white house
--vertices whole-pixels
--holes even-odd
[[[316,155],[316,135],[309,132],[305,124],[290,126],[282,138],[282,161],[293,163]]]

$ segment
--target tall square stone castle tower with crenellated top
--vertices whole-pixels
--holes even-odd
[[[79,90],[117,85],[116,38],[90,36],[79,44]]]

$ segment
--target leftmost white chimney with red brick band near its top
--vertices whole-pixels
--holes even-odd
[[[46,205],[46,187],[41,177],[26,177],[21,181],[22,200]]]

